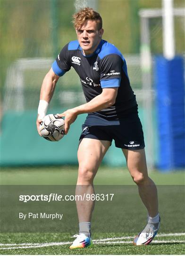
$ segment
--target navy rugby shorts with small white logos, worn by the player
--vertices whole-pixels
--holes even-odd
[[[143,128],[137,111],[117,120],[89,114],[82,125],[79,139],[83,138],[110,142],[114,139],[116,147],[130,150],[142,149],[145,146]]]

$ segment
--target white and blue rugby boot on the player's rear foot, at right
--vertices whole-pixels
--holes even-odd
[[[150,244],[153,238],[157,235],[159,229],[160,221],[155,224],[148,222],[143,231],[134,238],[133,244],[136,246]]]

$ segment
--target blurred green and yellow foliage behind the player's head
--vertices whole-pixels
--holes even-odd
[[[1,85],[8,66],[17,58],[53,57],[70,40],[76,39],[71,23],[74,0],[1,0]],[[174,0],[174,7],[185,7],[184,0]],[[99,0],[104,39],[123,54],[139,53],[141,8],[161,8],[161,0]],[[54,8],[54,9],[53,9]],[[151,20],[151,50],[162,53],[162,19]],[[55,30],[55,34],[52,32]],[[175,20],[176,49],[184,53],[184,22]],[[56,49],[53,49],[53,46]]]

